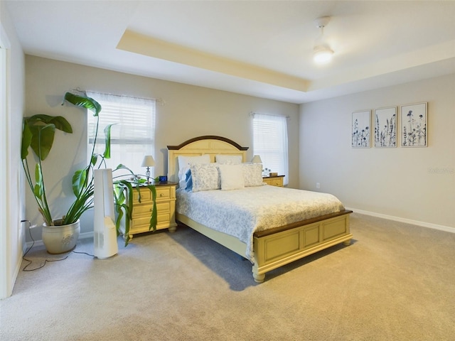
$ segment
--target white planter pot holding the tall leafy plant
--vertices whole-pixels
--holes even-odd
[[[41,234],[45,249],[50,254],[63,254],[75,248],[79,238],[80,221],[61,226],[47,226],[43,224]]]

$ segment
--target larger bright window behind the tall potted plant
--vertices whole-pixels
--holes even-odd
[[[144,174],[141,167],[145,155],[154,156],[155,144],[155,100],[136,97],[118,96],[87,92],[101,104],[100,124],[98,127],[95,153],[105,151],[104,129],[108,124],[111,128],[111,158],[106,160],[107,168],[114,170],[122,163],[136,174]],[[88,148],[92,152],[95,139],[96,117],[88,115]],[[151,168],[151,176],[154,176]]]

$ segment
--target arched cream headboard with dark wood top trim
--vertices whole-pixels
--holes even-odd
[[[178,183],[178,156],[199,156],[208,154],[215,162],[215,155],[241,155],[242,161],[247,158],[248,147],[242,147],[230,139],[221,136],[199,136],[183,142],[178,146],[168,146],[168,180]]]

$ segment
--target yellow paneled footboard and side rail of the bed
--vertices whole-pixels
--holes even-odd
[[[350,244],[350,239],[353,237],[349,232],[350,213],[352,211],[344,210],[331,215],[256,232],[253,238],[255,264],[252,266],[255,281],[261,283],[264,281],[267,271],[277,269],[279,266],[289,264],[309,254],[314,254],[340,243]],[[203,224],[178,213],[176,219],[245,257],[247,246],[239,239],[205,227]]]

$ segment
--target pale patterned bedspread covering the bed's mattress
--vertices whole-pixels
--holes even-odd
[[[256,231],[344,210],[334,195],[271,185],[195,193],[179,189],[176,196],[178,213],[237,237],[247,244],[245,256],[250,261]]]

